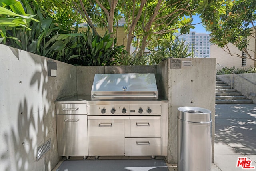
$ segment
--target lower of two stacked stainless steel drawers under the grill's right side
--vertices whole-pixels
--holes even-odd
[[[161,138],[125,138],[125,155],[161,155]]]

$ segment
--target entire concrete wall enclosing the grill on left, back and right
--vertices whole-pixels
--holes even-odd
[[[167,59],[157,66],[72,66],[2,44],[0,52],[1,169],[53,169],[59,161],[54,101],[72,95],[90,95],[94,74],[100,73],[156,74],[158,95],[169,101],[169,163],[177,162],[177,108],[210,109],[213,161],[215,58]],[[173,68],[172,60],[181,60],[180,68]],[[47,76],[48,61],[57,62],[56,77]],[[183,65],[183,61],[190,62]],[[38,146],[48,139],[52,141],[52,149],[36,161]]]

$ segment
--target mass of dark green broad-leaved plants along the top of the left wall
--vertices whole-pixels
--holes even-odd
[[[54,23],[52,18],[45,18],[40,8],[35,10],[25,4],[30,13],[37,13],[39,22],[30,21],[30,30],[13,27],[5,31],[6,45],[75,65],[119,64],[126,54],[124,46],[117,46],[117,40],[110,38],[107,32],[103,37],[89,28],[86,32],[76,33],[76,30]],[[33,5],[38,6],[37,3]]]

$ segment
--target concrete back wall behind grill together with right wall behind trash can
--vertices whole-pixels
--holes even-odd
[[[177,163],[177,109],[182,106],[202,107],[212,111],[212,162],[215,131],[215,58],[180,58],[192,66],[171,69],[167,59],[157,66],[78,66],[78,95],[91,95],[94,74],[155,73],[160,99],[169,101],[168,163]],[[81,79],[82,78],[82,79]]]

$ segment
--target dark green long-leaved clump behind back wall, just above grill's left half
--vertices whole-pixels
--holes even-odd
[[[78,65],[114,65],[127,53],[124,46],[117,46],[116,38],[105,33],[103,37],[91,32],[88,28],[78,37],[79,53],[69,60]]]

